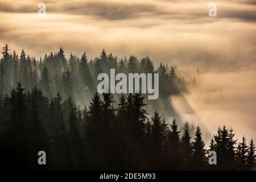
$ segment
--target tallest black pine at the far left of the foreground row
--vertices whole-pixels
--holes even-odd
[[[26,94],[22,88],[22,84],[18,82],[15,89],[11,90],[10,97],[10,123],[8,127],[8,142],[9,155],[6,156],[10,166],[15,165],[15,168],[24,169],[28,167],[30,160],[27,153],[27,134],[26,134],[26,114],[27,103]]]

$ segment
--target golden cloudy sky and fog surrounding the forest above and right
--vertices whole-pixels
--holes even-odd
[[[46,17],[38,16],[39,2]],[[217,17],[208,16],[210,2]],[[255,138],[255,22],[256,0],[0,0],[0,45],[36,57],[59,47],[95,57],[105,48],[200,67],[208,71],[198,76],[200,90],[185,96],[200,120],[211,133],[226,124]],[[217,99],[221,87],[225,102]]]

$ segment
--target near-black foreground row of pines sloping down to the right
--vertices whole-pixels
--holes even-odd
[[[42,90],[31,92],[20,82],[0,99],[0,155],[6,169],[166,169],[252,170],[255,146],[245,137],[237,144],[232,129],[219,127],[209,150],[217,165],[209,165],[200,127],[193,135],[186,123],[181,133],[176,119],[168,125],[158,111],[144,110],[141,94],[119,97],[94,94],[80,109],[72,97],[59,93],[50,100]],[[38,151],[47,165],[38,165]]]

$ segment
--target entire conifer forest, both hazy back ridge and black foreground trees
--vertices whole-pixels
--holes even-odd
[[[159,73],[159,100],[144,94],[97,93],[98,73]],[[187,92],[175,66],[154,68],[148,56],[118,59],[105,50],[88,60],[66,59],[63,48],[36,60],[2,48],[0,155],[6,169],[29,170],[254,170],[253,139],[241,142],[218,127],[209,144],[200,126],[164,119],[167,98]],[[164,103],[164,104],[163,104]],[[148,107],[151,105],[151,107]],[[157,109],[157,110],[156,110]],[[161,113],[161,114],[160,114]],[[169,113],[170,115],[173,113]],[[170,123],[170,124],[168,124]],[[38,165],[46,151],[47,165]],[[208,163],[216,151],[217,165]]]

